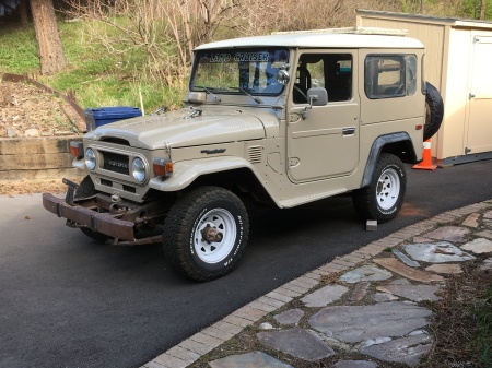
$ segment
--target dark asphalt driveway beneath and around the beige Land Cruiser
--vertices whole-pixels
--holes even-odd
[[[0,367],[139,367],[337,256],[492,199],[492,161],[408,174],[403,210],[376,232],[348,197],[251,214],[239,268],[206,284],[177,276],[157,245],[93,242],[40,194],[0,197]]]

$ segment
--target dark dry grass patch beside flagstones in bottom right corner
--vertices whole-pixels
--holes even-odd
[[[480,258],[462,264],[431,304],[436,342],[419,367],[492,367],[492,278],[482,264]]]

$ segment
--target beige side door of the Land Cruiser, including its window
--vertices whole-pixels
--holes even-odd
[[[356,51],[304,52],[291,93],[289,177],[294,182],[347,176],[359,163]],[[323,87],[328,104],[309,107],[309,87]]]

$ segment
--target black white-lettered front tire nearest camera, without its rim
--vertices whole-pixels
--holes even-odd
[[[213,273],[201,271],[187,262],[190,224],[195,222],[197,213],[210,198],[231,201],[239,209],[244,218],[243,242],[235,262]],[[166,216],[163,230],[164,256],[173,269],[191,280],[208,282],[222,277],[235,269],[242,257],[244,246],[248,240],[249,224],[247,218],[247,212],[243,202],[229,190],[212,186],[195,188],[179,198]]]

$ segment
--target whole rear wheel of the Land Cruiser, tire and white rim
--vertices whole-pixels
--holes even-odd
[[[382,154],[367,188],[352,193],[355,212],[363,219],[386,223],[401,209],[407,189],[407,173],[400,158]]]

